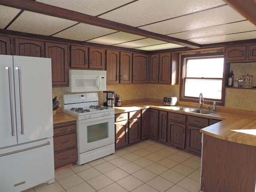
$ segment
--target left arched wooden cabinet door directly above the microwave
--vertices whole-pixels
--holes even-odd
[[[70,46],[70,67],[88,68],[88,47]]]

